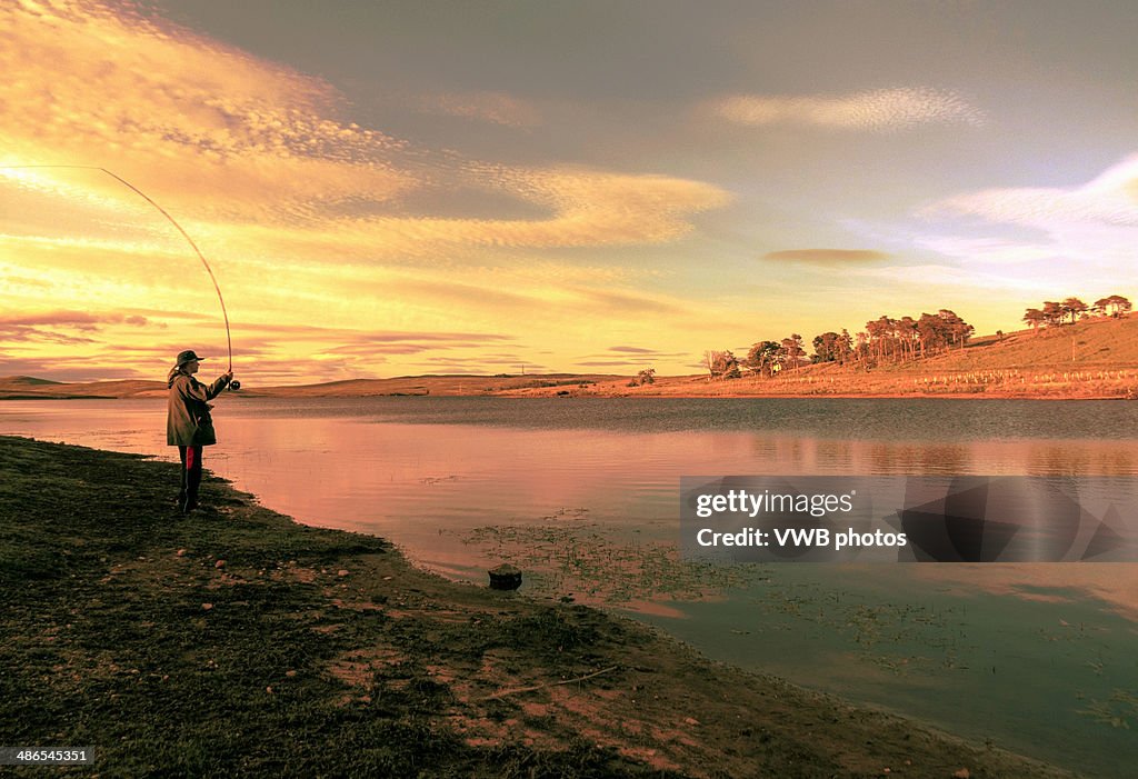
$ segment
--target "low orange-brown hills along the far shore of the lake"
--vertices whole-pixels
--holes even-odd
[[[0,379],[0,399],[164,397],[160,381],[61,383],[33,376]],[[613,374],[422,375],[351,379],[296,387],[246,383],[244,397],[357,398],[376,396],[913,396],[1114,398],[1138,395],[1138,314],[1092,318],[1038,332],[972,339],[963,349],[923,361],[864,366],[826,363],[775,378],[709,381],[657,376],[629,387]]]

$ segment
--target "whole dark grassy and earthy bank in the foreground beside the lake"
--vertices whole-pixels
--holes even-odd
[[[168,463],[0,437],[0,741],[96,751],[58,772],[1069,776],[447,582],[218,480],[182,519]]]

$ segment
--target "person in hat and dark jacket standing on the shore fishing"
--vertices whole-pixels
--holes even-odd
[[[178,364],[166,376],[170,388],[170,401],[166,406],[166,444],[178,447],[182,459],[182,489],[178,494],[178,505],[183,514],[189,514],[198,506],[198,486],[201,483],[201,453],[207,446],[217,442],[213,428],[213,417],[207,401],[217,397],[232,381],[230,368],[209,384],[203,384],[193,374],[200,367],[200,361],[192,349],[179,353]]]

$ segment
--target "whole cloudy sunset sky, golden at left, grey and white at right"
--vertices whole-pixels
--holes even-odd
[[[1133,2],[0,5],[0,375],[694,373],[1138,298]]]

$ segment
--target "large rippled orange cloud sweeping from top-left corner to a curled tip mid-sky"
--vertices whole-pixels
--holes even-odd
[[[328,83],[129,8],[0,9],[2,163],[96,164],[206,219],[218,241],[266,233],[302,251],[327,243],[399,254],[409,247],[605,246],[670,240],[687,215],[726,201],[667,176],[563,167],[519,169],[431,150],[340,118]],[[435,98],[440,110],[536,121],[497,93]],[[3,172],[24,190],[106,212],[134,196],[97,173]],[[453,219],[384,213],[412,192],[497,190],[549,218]],[[22,196],[26,197],[26,196]],[[372,217],[335,216],[370,204]],[[137,205],[137,204],[134,204]],[[254,226],[256,225],[256,226]],[[257,229],[259,227],[259,230]],[[429,250],[429,249],[428,249]]]

